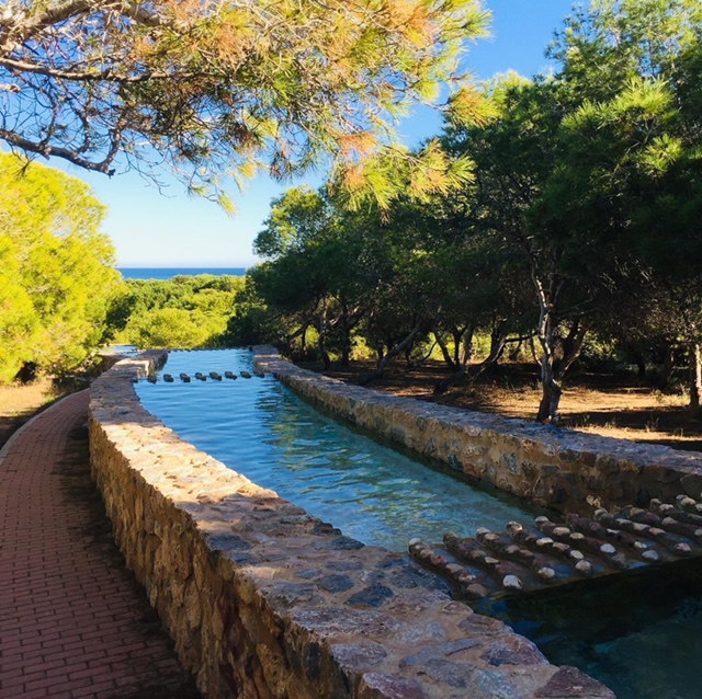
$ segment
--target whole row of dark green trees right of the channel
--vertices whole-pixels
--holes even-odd
[[[477,331],[489,333],[490,362],[528,340],[544,422],[557,421],[561,381],[592,335],[639,371],[646,356],[661,359],[661,382],[672,354],[687,354],[695,405],[701,46],[699,0],[577,5],[548,49],[553,75],[497,77],[483,88],[482,119],[446,119],[443,151],[473,163],[458,191],[421,205],[400,196],[384,211],[349,213],[329,190],[274,202],[257,242],[271,262],[251,275],[263,305],[339,350],[342,280],[344,305],[363,309],[352,332],[381,365],[393,347],[409,354],[433,337],[457,376]],[[365,286],[350,284],[363,270]]]

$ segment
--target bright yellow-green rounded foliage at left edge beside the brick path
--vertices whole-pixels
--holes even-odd
[[[79,180],[0,153],[0,382],[71,370],[102,341],[120,278],[103,215]]]

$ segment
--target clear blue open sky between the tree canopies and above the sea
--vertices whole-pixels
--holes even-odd
[[[491,36],[473,44],[465,58],[475,78],[487,80],[508,70],[531,77],[547,70],[544,50],[573,0],[484,0],[484,5],[492,13]],[[438,134],[440,126],[440,117],[421,107],[400,125],[400,133],[411,146]],[[88,182],[107,205],[102,230],[112,239],[121,267],[251,266],[257,262],[252,242],[271,200],[290,186],[321,184],[280,184],[260,175],[245,192],[231,193],[237,213],[230,217],[216,204],[189,196],[176,181],[159,192],[134,171],[107,177],[59,161],[48,164]]]

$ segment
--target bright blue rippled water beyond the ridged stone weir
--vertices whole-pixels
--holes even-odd
[[[252,371],[248,351],[172,352],[166,371]],[[540,514],[356,434],[268,376],[140,381],[144,406],[183,439],[366,545],[406,551],[412,537],[505,529]]]

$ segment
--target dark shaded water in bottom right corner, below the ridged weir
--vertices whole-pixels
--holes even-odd
[[[702,561],[502,600],[485,611],[618,699],[702,697]]]

